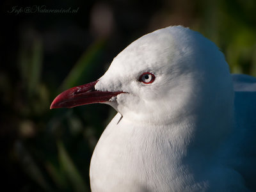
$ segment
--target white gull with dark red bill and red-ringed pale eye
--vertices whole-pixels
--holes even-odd
[[[117,115],[90,165],[92,191],[256,190],[256,79],[182,26],[142,36],[99,80],[51,108],[102,102]]]

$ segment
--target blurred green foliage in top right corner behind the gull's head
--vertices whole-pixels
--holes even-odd
[[[256,1],[200,1],[198,29],[224,52],[232,73],[256,76]]]

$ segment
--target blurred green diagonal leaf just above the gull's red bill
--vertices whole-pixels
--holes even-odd
[[[102,54],[105,44],[105,39],[99,39],[83,53],[81,58],[77,61],[76,65],[74,65],[68,76],[63,81],[61,90],[66,90],[76,86],[77,84],[81,83],[81,79],[83,79],[83,82],[86,81],[86,77],[92,74],[93,68],[97,67],[95,63],[97,63],[97,60]]]

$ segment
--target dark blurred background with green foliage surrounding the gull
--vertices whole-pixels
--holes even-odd
[[[1,1],[1,191],[90,191],[93,148],[116,112],[103,104],[50,111],[51,101],[171,25],[200,31],[231,72],[256,76],[255,0]]]

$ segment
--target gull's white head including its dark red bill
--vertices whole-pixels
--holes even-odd
[[[186,116],[232,111],[233,90],[225,58],[191,29],[171,26],[132,42],[97,81],[67,90],[51,108],[106,103],[123,118],[170,124]]]

